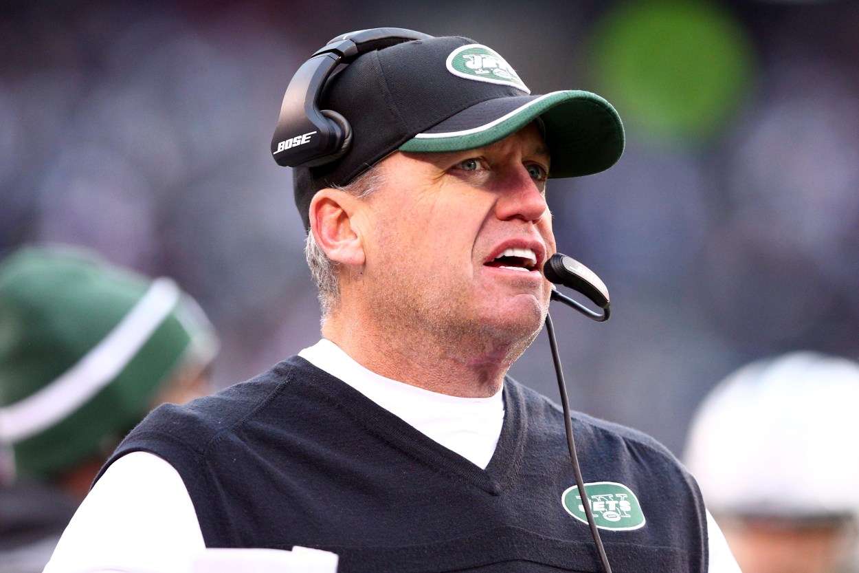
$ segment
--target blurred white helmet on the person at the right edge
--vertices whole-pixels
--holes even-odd
[[[813,352],[752,362],[710,392],[685,464],[714,514],[859,518],[859,363]]]

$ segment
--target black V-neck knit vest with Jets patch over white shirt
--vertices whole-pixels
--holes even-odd
[[[563,414],[512,379],[503,397],[483,470],[293,357],[161,406],[107,465],[138,450],[174,465],[209,547],[315,547],[338,553],[342,573],[600,571],[588,525],[561,501],[575,484]],[[600,530],[614,573],[705,573],[704,504],[671,453],[582,414],[573,427],[585,482],[623,484],[644,515],[642,527]],[[601,499],[600,512],[623,509]]]

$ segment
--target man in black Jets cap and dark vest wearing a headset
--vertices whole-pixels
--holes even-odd
[[[320,95],[337,130],[279,126],[272,145],[280,161],[313,151],[314,134],[344,134],[313,166],[283,160],[295,164],[323,339],[157,410],[114,454],[47,573],[93,554],[118,570],[180,570],[204,546],[295,545],[337,553],[340,571],[600,567],[563,416],[505,375],[549,304],[546,180],[615,163],[620,120],[597,95],[529,95],[472,40],[367,49],[368,34],[325,85],[320,70],[338,62],[308,60],[284,97],[289,116]],[[664,447],[588,416],[574,425],[618,570],[735,570]],[[88,541],[118,519],[110,543]]]

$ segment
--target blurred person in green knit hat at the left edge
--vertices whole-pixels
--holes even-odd
[[[125,434],[208,390],[216,335],[172,280],[60,245],[0,262],[0,333],[0,571],[41,571]]]

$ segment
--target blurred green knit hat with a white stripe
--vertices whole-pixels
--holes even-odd
[[[27,246],[0,263],[0,441],[21,475],[51,478],[112,448],[216,334],[173,280],[88,250]]]

